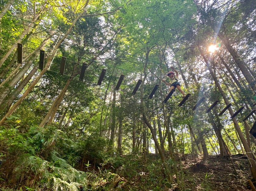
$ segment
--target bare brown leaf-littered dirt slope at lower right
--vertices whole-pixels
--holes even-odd
[[[233,155],[231,158],[236,170],[230,158],[210,156],[203,163],[201,158],[195,160],[187,157],[183,160],[187,172],[187,186],[190,185],[191,190],[251,190],[247,183],[247,180],[251,179],[247,157]]]

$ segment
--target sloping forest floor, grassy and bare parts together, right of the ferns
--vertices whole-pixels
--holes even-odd
[[[251,190],[247,183],[247,180],[251,179],[247,157],[245,155],[232,155],[231,158],[232,160],[229,157],[209,156],[207,161],[202,162],[202,156],[184,155],[177,157],[176,163],[167,159],[166,164],[171,167],[170,169],[176,167],[178,170],[178,174],[171,172],[172,180],[167,181],[166,169],[164,169],[159,155],[148,154],[146,162],[141,155],[126,155],[117,157],[111,163],[105,163],[101,167],[91,166],[90,169],[88,168],[86,172],[88,174],[87,188],[80,190]],[[234,165],[232,165],[232,161]],[[180,179],[179,186],[176,176]],[[2,186],[0,181],[0,191],[16,190],[11,189],[15,187],[14,185],[5,185],[5,188]],[[42,191],[45,189],[31,190]]]

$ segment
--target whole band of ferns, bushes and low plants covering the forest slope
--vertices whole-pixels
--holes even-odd
[[[245,173],[246,162],[235,161],[240,170],[233,176],[231,162],[216,157],[204,164],[194,157],[167,158],[163,164],[157,154],[146,159],[142,154],[111,155],[114,151],[108,151],[105,139],[79,140],[54,126],[25,131],[15,125],[0,127],[0,143],[0,191],[215,190],[216,185],[222,190],[231,185],[244,189],[243,180],[248,177],[243,175],[250,173]],[[226,177],[233,184],[222,182]]]

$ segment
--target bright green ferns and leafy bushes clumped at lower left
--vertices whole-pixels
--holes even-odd
[[[26,134],[21,134],[18,129],[2,128],[0,141],[8,148],[8,153],[5,150],[3,157],[8,156],[10,159],[12,155],[13,165],[8,169],[12,182],[21,182],[28,190],[78,190],[81,186],[86,188],[86,173],[76,170],[72,166],[73,163],[70,165],[63,159],[74,161],[72,153],[71,156],[68,153],[72,149],[68,151],[67,148],[76,147],[76,144],[67,139],[62,131],[54,127],[32,127]],[[57,151],[62,153],[62,156]]]

